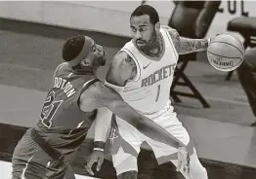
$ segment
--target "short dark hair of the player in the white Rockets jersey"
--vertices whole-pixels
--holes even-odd
[[[138,8],[136,8],[132,13],[131,18],[141,17],[144,15],[149,15],[149,20],[153,25],[155,25],[155,23],[159,21],[158,13],[153,7],[149,5],[141,5]]]

